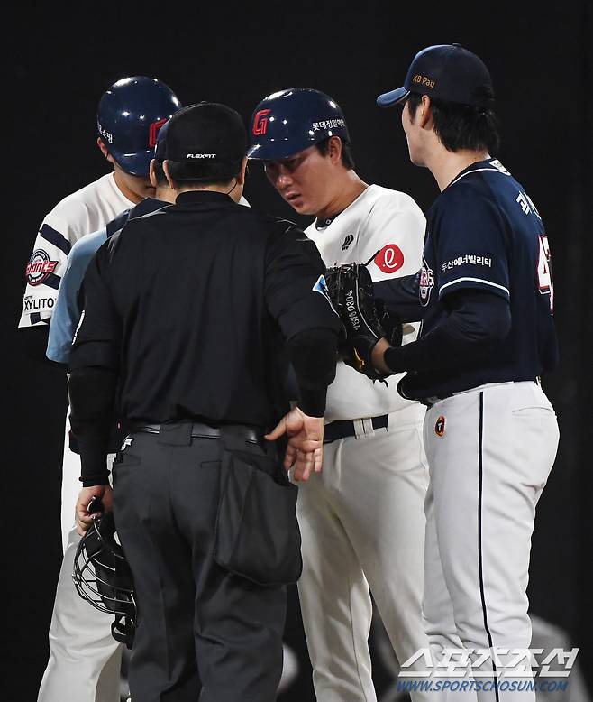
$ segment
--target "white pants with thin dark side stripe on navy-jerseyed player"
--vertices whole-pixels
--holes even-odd
[[[476,651],[529,648],[526,588],[535,505],[558,439],[552,405],[534,382],[484,385],[426,412],[423,608],[433,660],[442,660],[445,648],[462,648],[476,662],[477,655],[484,659]],[[449,688],[431,698],[534,702],[534,692],[511,689],[508,664],[516,655],[500,658],[498,666],[490,656],[474,668],[479,691],[462,690],[456,679],[456,692]]]

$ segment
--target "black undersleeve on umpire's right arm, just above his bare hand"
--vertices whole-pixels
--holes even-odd
[[[327,386],[335,377],[337,332],[305,329],[288,341],[287,350],[295,369],[299,408],[310,417],[323,417]]]

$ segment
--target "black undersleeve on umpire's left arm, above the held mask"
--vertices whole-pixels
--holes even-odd
[[[70,425],[78,440],[85,487],[109,484],[106,461],[116,387],[117,375],[108,368],[85,366],[68,378]]]

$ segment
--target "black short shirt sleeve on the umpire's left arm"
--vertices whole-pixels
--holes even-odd
[[[97,366],[117,371],[122,321],[110,290],[109,255],[113,239],[88,264],[83,280],[84,307],[70,353],[70,371]]]

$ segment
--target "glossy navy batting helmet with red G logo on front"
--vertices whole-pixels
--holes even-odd
[[[250,159],[276,161],[303,151],[329,136],[350,143],[340,106],[313,88],[288,88],[272,93],[251,117]]]

